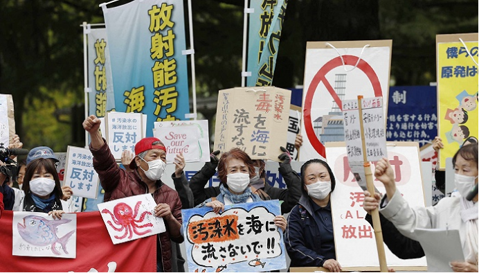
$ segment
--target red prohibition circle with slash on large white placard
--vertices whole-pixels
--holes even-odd
[[[354,66],[356,62],[358,62],[358,59],[358,57],[353,55],[343,55],[345,65]],[[316,73],[313,80],[311,80],[311,84],[307,89],[307,93],[305,96],[305,105],[303,105],[302,108],[303,118],[305,121],[306,135],[314,150],[316,150],[316,152],[318,152],[323,157],[326,157],[326,150],[323,143],[320,143],[318,136],[316,136],[316,134],[314,133],[313,123],[311,122],[311,103],[313,101],[313,96],[314,92],[316,91],[316,88],[318,87],[320,82],[323,82],[323,85],[325,85],[327,91],[329,91],[329,94],[331,94],[338,107],[342,110],[341,99],[338,97],[338,94],[336,94],[336,91],[334,91],[334,88],[331,86],[331,84],[329,84],[326,79],[326,73],[332,71],[332,69],[335,69],[336,67],[341,66],[343,66],[341,57],[336,57],[327,62],[325,65],[323,65],[323,67],[319,69],[318,73]],[[374,91],[374,96],[383,96],[381,92],[381,84],[379,83],[379,78],[377,78],[374,69],[372,69],[372,67],[362,59],[359,60],[357,68],[363,71],[366,76],[368,76],[368,79],[370,80],[372,89]]]

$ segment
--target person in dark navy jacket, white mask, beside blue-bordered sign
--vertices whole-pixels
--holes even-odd
[[[333,222],[329,197],[336,179],[321,159],[310,159],[301,167],[302,195],[291,210],[284,244],[290,267],[325,267],[340,272],[334,248]]]

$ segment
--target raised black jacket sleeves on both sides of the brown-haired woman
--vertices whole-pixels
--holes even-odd
[[[190,179],[190,188],[195,196],[195,206],[204,202],[210,197],[219,195],[219,186],[205,188],[208,180],[216,173],[217,164],[206,162],[206,164]],[[289,213],[301,197],[301,178],[292,168],[291,164],[280,163],[279,168],[287,188],[275,188],[269,183],[264,184],[263,191],[271,197],[271,200],[282,200],[281,213]]]

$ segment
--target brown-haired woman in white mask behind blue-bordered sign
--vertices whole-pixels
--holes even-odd
[[[197,207],[210,206],[215,213],[224,211],[224,205],[262,201],[259,195],[251,191],[249,181],[255,176],[253,160],[238,148],[224,152],[218,164],[218,176],[222,184],[219,195],[207,199]],[[286,229],[286,218],[278,215],[274,218],[276,226]]]

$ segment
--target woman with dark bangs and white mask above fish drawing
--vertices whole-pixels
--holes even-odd
[[[25,197],[19,210],[44,212],[53,218],[62,218],[64,212],[73,212],[71,206],[62,199],[63,191],[53,162],[42,157],[31,161],[25,171]]]

